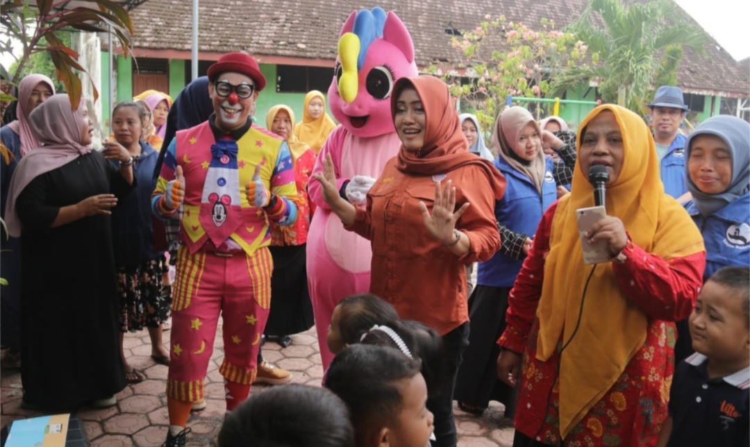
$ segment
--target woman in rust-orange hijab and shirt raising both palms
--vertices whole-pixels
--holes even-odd
[[[371,293],[390,302],[399,317],[443,336],[443,386],[428,409],[435,415],[433,446],[455,446],[453,388],[469,335],[466,266],[499,248],[494,205],[505,178],[469,152],[443,81],[401,78],[391,112],[401,149],[368,192],[366,208],[341,198],[330,155],[324,175],[315,178],[344,226],[372,243]]]

